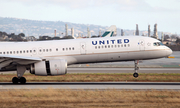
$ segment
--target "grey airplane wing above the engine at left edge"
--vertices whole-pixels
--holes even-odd
[[[28,65],[41,61],[38,57],[25,57],[25,56],[13,56],[13,55],[0,55],[0,70],[10,70],[13,66]]]

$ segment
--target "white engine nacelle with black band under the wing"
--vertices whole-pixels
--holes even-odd
[[[47,75],[64,75],[67,73],[67,61],[64,59],[41,61],[31,65],[31,74]]]

